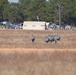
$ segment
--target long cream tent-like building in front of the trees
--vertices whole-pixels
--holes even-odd
[[[24,21],[23,29],[25,30],[45,30],[44,21]]]

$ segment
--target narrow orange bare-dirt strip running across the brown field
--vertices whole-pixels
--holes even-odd
[[[24,53],[31,53],[31,52],[76,52],[76,49],[34,49],[34,48],[0,48],[0,52],[24,52]]]

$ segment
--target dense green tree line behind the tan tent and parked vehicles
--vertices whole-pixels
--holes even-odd
[[[52,21],[76,24],[76,0],[0,0],[0,21]]]

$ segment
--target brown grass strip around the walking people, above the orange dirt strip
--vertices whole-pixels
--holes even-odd
[[[36,36],[34,43],[30,40],[32,33]],[[47,44],[44,38],[48,34],[59,34],[61,40],[57,44]],[[0,48],[76,49],[76,31],[0,30]]]

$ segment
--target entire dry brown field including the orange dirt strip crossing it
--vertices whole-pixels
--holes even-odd
[[[61,40],[47,44],[48,34]],[[0,30],[0,75],[76,75],[76,31]]]

